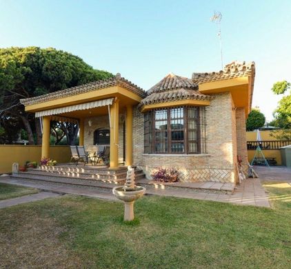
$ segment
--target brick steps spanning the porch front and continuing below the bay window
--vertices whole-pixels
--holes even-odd
[[[175,182],[161,183],[145,179],[142,170],[134,168],[135,181],[138,186],[148,189],[148,194],[154,194],[157,190],[169,190],[172,192],[206,192],[229,195],[234,192],[233,183],[207,182]],[[99,192],[112,192],[114,186],[122,186],[126,180],[126,167],[114,170],[91,166],[41,166],[37,169],[29,169],[27,172],[19,172],[11,175],[11,179],[23,179],[30,183],[54,184],[59,186],[72,186],[78,188],[90,188]]]

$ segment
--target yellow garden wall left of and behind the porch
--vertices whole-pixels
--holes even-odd
[[[69,146],[50,146],[50,159],[58,163],[70,161],[71,153]],[[41,159],[41,145],[0,145],[0,174],[12,172],[12,163],[23,166],[26,161],[37,161]]]

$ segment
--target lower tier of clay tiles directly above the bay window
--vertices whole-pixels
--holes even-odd
[[[150,105],[152,103],[163,103],[185,99],[210,100],[212,97],[210,95],[202,94],[198,90],[180,88],[175,90],[167,90],[164,92],[153,92],[152,94],[148,95],[148,97],[145,97],[145,99],[141,100],[139,107]]]

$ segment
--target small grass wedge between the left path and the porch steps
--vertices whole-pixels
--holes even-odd
[[[32,195],[37,192],[39,191],[35,188],[0,183],[0,200],[20,197],[23,195]]]

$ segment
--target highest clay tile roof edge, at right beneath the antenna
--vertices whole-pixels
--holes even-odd
[[[239,61],[233,61],[227,64],[223,70],[219,72],[205,72],[205,73],[193,73],[192,81],[197,84],[219,81],[223,79],[234,79],[236,77],[254,77],[255,65],[254,62],[245,63]]]

